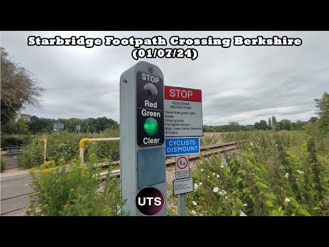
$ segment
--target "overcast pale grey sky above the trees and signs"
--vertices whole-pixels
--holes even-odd
[[[132,67],[131,46],[49,47],[27,45],[28,36],[86,38],[301,38],[301,46],[193,47],[198,58],[141,59],[156,64],[167,86],[202,90],[203,121],[254,124],[273,115],[307,121],[315,115],[315,98],[329,90],[329,32],[1,32],[1,47],[29,69],[47,90],[42,109],[24,113],[47,117],[106,116],[119,122],[119,78]],[[169,47],[169,46],[168,46]],[[143,47],[151,48],[151,47]],[[164,48],[164,47],[161,47]],[[181,47],[175,47],[181,48]],[[184,48],[184,47],[183,47]],[[187,47],[185,47],[187,48]]]

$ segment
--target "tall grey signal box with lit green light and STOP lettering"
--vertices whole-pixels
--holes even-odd
[[[164,146],[164,78],[149,62],[138,62],[120,78],[120,170],[123,211],[142,215],[136,208],[138,191],[156,187],[164,196],[157,215],[167,215]]]

